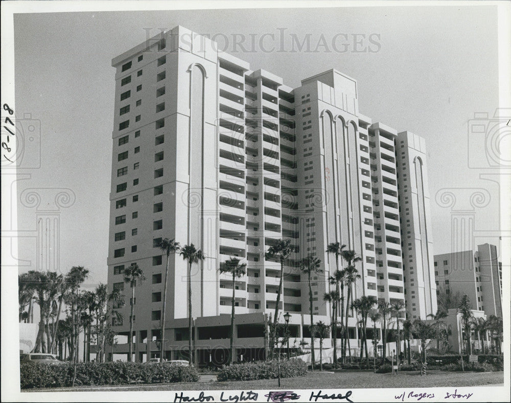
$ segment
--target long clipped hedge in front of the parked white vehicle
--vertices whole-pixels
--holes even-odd
[[[28,388],[58,388],[73,385],[73,364],[21,363],[20,386]],[[79,363],[75,386],[126,385],[197,382],[199,374],[194,367],[148,363]]]

